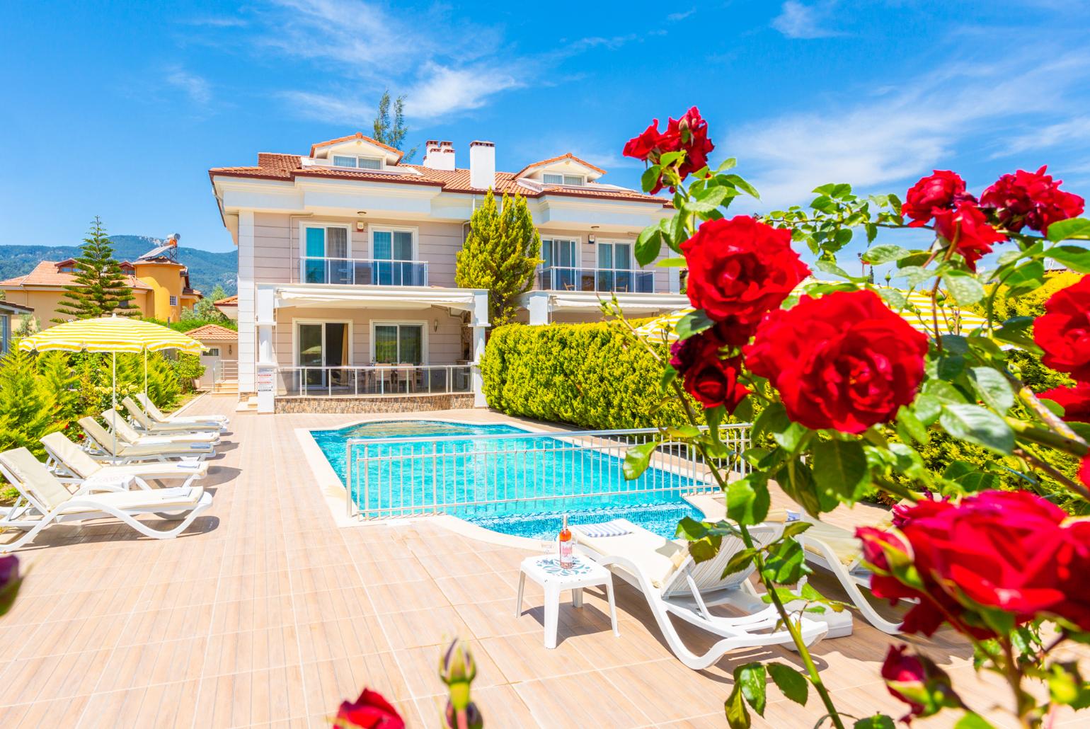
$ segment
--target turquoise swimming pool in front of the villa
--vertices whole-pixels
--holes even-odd
[[[312,430],[346,483],[346,446],[353,446],[353,501],[367,515],[436,510],[485,528],[550,538],[569,523],[625,518],[674,536],[683,517],[700,518],[682,493],[705,484],[682,469],[647,469],[625,478],[626,446],[531,433],[511,425],[383,421]],[[366,441],[382,442],[366,442]]]

